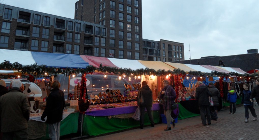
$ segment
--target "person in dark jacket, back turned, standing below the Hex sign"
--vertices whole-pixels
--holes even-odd
[[[149,86],[147,85],[146,81],[143,81],[141,84],[141,88],[138,93],[138,106],[140,107],[140,128],[143,129],[144,126],[144,117],[145,117],[145,109],[147,109],[147,114],[150,120],[150,124],[154,127],[154,119],[151,113],[151,108],[153,105],[153,98],[152,98],[152,91],[150,90]],[[140,103],[140,98],[143,96],[144,103]]]

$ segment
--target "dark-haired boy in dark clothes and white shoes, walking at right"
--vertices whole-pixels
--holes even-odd
[[[245,109],[245,121],[244,122],[248,122],[249,119],[249,112],[248,109],[251,111],[251,114],[254,116],[254,121],[257,120],[257,115],[255,114],[255,109],[254,109],[254,102],[251,102],[250,96],[251,96],[251,91],[248,90],[249,85],[247,83],[244,83],[243,85],[243,94],[242,94],[242,101],[241,104],[244,104],[244,109]]]

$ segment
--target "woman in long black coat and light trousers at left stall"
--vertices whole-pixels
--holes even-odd
[[[59,81],[54,81],[51,85],[51,93],[47,98],[46,108],[42,113],[41,120],[48,124],[49,138],[59,140],[60,136],[60,121],[63,118],[63,109],[65,106],[64,93],[60,90]]]

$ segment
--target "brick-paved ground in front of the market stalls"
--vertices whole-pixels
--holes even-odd
[[[179,120],[176,127],[164,131],[166,124],[156,124],[155,127],[146,126],[144,129],[132,129],[111,135],[100,136],[90,139],[109,140],[135,140],[135,139],[259,139],[259,107],[255,106],[258,120],[253,121],[250,111],[249,122],[244,122],[244,107],[237,107],[236,114],[229,114],[229,109],[218,113],[218,120],[212,120],[211,125],[203,126],[200,116]],[[82,138],[83,139],[83,138]],[[87,139],[87,138],[85,138]]]

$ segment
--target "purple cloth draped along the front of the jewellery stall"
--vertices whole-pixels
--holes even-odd
[[[94,111],[86,111],[86,115],[90,116],[112,116],[119,114],[128,114],[134,113],[138,106],[129,106],[129,107],[117,107],[117,108],[109,108],[102,110],[94,110]],[[160,110],[159,103],[154,103],[151,110]]]

